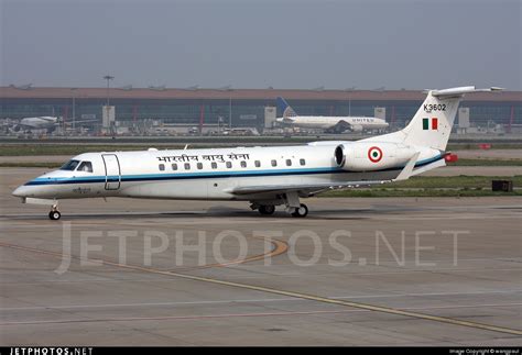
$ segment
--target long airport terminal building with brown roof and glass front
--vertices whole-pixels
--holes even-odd
[[[0,119],[58,115],[63,122],[91,120],[98,129],[104,107],[113,107],[111,124],[137,131],[168,126],[200,131],[209,127],[269,129],[275,98],[284,97],[302,115],[385,118],[392,129],[404,126],[425,98],[421,90],[291,90],[291,89],[171,89],[171,88],[40,88],[1,87]],[[469,95],[460,104],[460,124],[505,133],[522,126],[522,91]],[[74,119],[73,119],[74,118]],[[110,118],[106,118],[110,120]],[[464,123],[463,123],[464,122]],[[78,123],[79,124],[79,123]]]

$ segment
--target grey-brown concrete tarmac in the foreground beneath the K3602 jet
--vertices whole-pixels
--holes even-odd
[[[1,345],[522,345],[522,198],[61,202],[1,168]]]

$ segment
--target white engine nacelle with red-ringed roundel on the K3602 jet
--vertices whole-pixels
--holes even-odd
[[[338,167],[350,171],[373,171],[403,167],[415,154],[413,147],[399,143],[356,142],[335,148]]]

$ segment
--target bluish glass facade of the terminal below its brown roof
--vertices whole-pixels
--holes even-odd
[[[105,99],[1,99],[0,119],[22,119],[39,115],[59,115],[70,120],[96,117],[101,122]],[[416,112],[422,101],[361,101],[361,100],[289,100],[302,115],[360,115],[373,117],[374,109],[385,108],[387,121],[392,126],[403,126]],[[140,122],[161,122],[172,125],[231,125],[264,126],[264,108],[274,107],[275,100],[186,100],[186,99],[111,99],[116,106],[116,119],[121,125]],[[469,108],[474,126],[521,125],[521,102],[463,101]],[[282,113],[278,110],[278,117]],[[229,120],[231,119],[231,124]]]

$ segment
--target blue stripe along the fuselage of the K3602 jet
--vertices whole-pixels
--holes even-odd
[[[438,155],[433,158],[420,160],[415,164],[415,168],[432,164],[442,159]],[[398,166],[387,169],[373,170],[368,173],[394,171],[401,170],[404,166]],[[202,173],[177,173],[177,174],[144,174],[144,175],[123,175],[121,181],[161,181],[177,179],[204,179],[204,178],[230,178],[230,177],[260,177],[260,176],[289,176],[289,175],[315,175],[315,174],[347,174],[361,173],[342,170],[337,167],[329,168],[297,168],[297,169],[273,169],[273,170],[237,170],[237,171],[202,171]],[[119,176],[109,176],[109,182],[118,182]],[[57,177],[57,178],[36,178],[25,184],[25,186],[34,185],[65,185],[65,184],[97,184],[106,182],[106,176],[81,176],[81,177]]]

